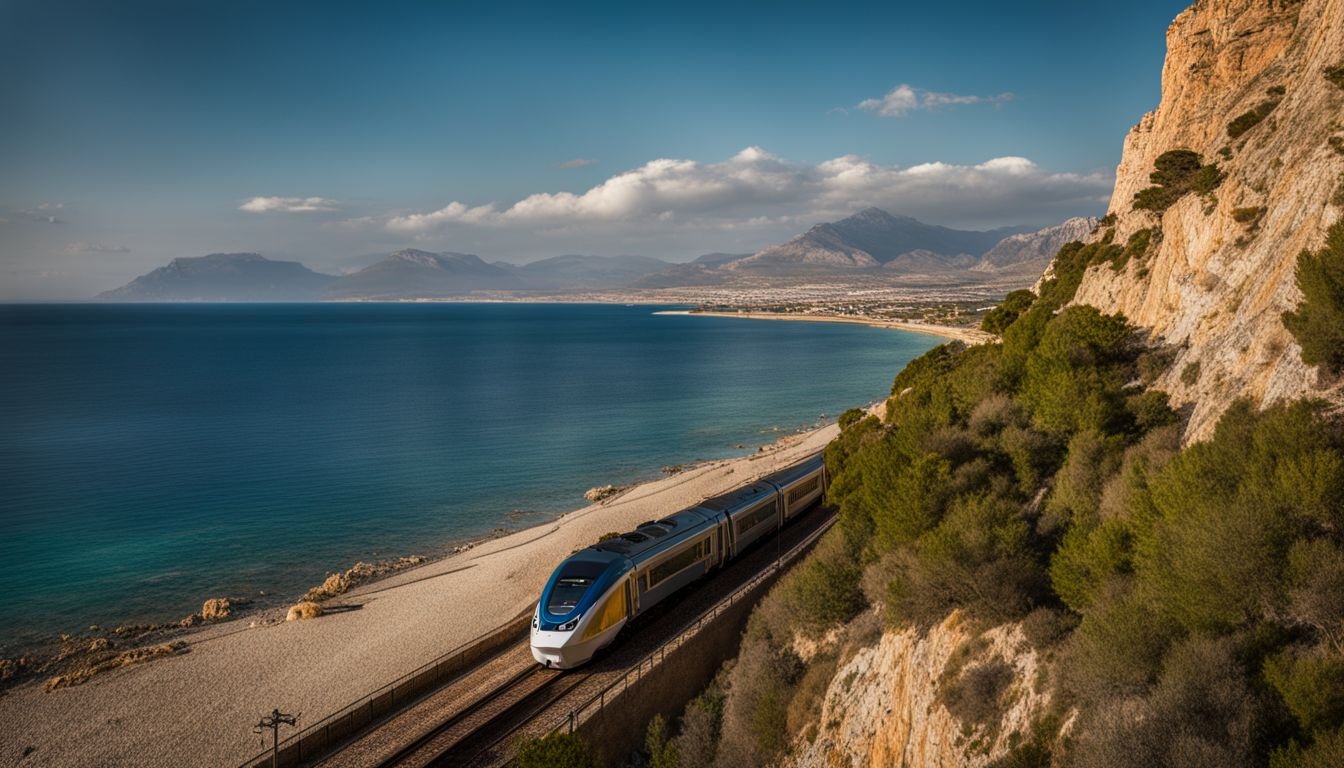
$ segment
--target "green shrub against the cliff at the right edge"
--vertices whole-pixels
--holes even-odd
[[[1344,373],[1344,222],[1329,229],[1321,250],[1298,254],[1297,288],[1302,300],[1284,313],[1284,327],[1302,347],[1302,362]]]

